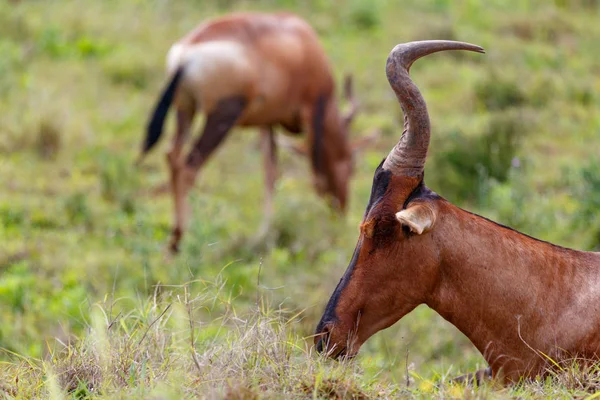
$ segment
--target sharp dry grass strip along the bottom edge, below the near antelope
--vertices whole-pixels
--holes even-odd
[[[133,310],[96,304],[87,334],[57,341],[45,360],[17,358],[0,373],[0,394],[85,398],[514,398],[581,396],[600,389],[600,367],[577,360],[546,380],[502,388],[438,384],[412,374],[410,387],[367,380],[356,361],[327,360],[295,333],[300,314],[266,306],[238,314],[223,285],[157,288]],[[117,312],[117,310],[119,310]],[[215,313],[219,312],[217,318]],[[211,317],[209,317],[211,316]],[[399,373],[399,372],[398,372]],[[446,380],[448,377],[443,377]]]

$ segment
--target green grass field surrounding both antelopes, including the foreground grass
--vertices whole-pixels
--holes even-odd
[[[276,245],[258,135],[238,129],[202,171],[182,252],[165,251],[166,142],[134,167],[173,41],[232,10],[291,10],[338,81],[355,76],[357,160],[345,219],[280,152]],[[352,362],[314,354],[372,174],[402,114],[391,48],[454,39],[487,54],[419,61],[433,123],[428,185],[540,239],[600,249],[600,2],[594,0],[0,0],[0,396],[5,398],[584,398],[595,367],[510,388],[437,387],[485,365],[422,306]]]

